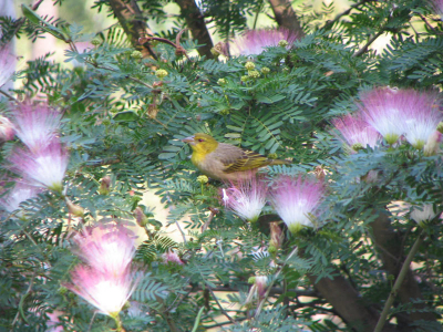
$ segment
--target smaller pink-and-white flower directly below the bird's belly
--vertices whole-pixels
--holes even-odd
[[[237,185],[231,183],[228,189],[223,189],[223,201],[241,219],[255,222],[266,205],[267,189],[257,176],[239,179]]]

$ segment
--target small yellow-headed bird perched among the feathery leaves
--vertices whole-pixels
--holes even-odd
[[[268,159],[251,151],[219,143],[214,137],[197,133],[182,139],[190,145],[193,164],[207,176],[218,180],[249,178],[254,170],[268,165],[289,164],[288,160]]]

